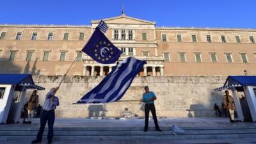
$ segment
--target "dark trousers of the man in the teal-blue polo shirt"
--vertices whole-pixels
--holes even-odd
[[[156,129],[159,129],[159,125],[158,125],[157,117],[156,117],[156,108],[155,108],[154,104],[145,104],[145,127],[144,128],[148,129],[149,111],[151,111],[151,113],[152,113]]]

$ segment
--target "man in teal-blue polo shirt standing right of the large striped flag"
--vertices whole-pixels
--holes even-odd
[[[144,87],[145,89],[145,93],[143,93],[143,97],[141,99],[141,102],[145,103],[145,127],[144,127],[144,131],[148,131],[148,115],[149,115],[149,111],[151,111],[153,119],[154,119],[154,123],[155,123],[155,127],[156,127],[156,131],[162,131],[159,128],[158,122],[157,122],[157,117],[156,117],[156,108],[154,105],[154,100],[156,100],[156,95],[154,92],[150,92],[148,86]]]

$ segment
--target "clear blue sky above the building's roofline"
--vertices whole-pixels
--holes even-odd
[[[121,15],[156,26],[256,28],[256,0],[1,0],[0,24],[85,24]]]

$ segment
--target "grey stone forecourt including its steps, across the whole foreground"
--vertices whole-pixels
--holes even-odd
[[[144,119],[98,120],[88,118],[56,118],[54,143],[256,143],[256,123],[229,123],[228,118],[162,118],[163,132],[143,132]],[[172,125],[185,133],[173,135]],[[0,143],[30,143],[36,138],[39,119],[33,124],[0,125]],[[44,142],[46,143],[44,133]]]

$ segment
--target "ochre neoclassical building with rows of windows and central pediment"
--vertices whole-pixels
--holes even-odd
[[[138,76],[256,75],[256,29],[159,27],[124,13],[103,19],[106,36],[129,56],[147,60]],[[80,53],[100,20],[90,26],[1,24],[0,73],[106,76],[102,65]],[[172,25],[172,24],[170,24]],[[77,56],[78,54],[78,56]]]

